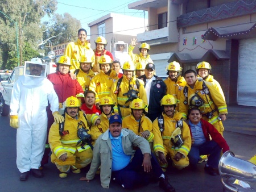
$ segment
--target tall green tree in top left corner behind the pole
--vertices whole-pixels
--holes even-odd
[[[38,44],[42,40],[43,31],[40,28],[41,19],[51,16],[57,9],[56,0],[2,0],[0,10],[22,26],[22,45],[30,46],[34,51],[38,50]],[[15,23],[0,13],[0,65],[1,68],[13,68],[17,65],[15,59],[16,29]],[[24,43],[27,42],[28,44]],[[23,48],[22,47],[22,48]],[[23,56],[26,59],[26,55]],[[4,65],[4,66],[3,66]]]

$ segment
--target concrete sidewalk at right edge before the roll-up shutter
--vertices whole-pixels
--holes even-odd
[[[256,136],[256,107],[228,106],[225,131]]]

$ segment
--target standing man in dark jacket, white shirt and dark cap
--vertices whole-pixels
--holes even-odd
[[[144,81],[144,87],[147,94],[148,114],[146,115],[152,122],[162,113],[160,101],[166,95],[166,84],[161,78],[154,75],[155,65],[148,63],[145,68],[145,74],[139,79]]]

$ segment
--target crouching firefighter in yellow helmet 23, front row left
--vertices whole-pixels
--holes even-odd
[[[49,130],[49,145],[52,151],[51,161],[56,164],[60,170],[60,177],[67,177],[67,172],[71,168],[73,173],[80,173],[92,161],[92,149],[88,144],[82,147],[82,143],[77,145],[80,140],[77,136],[77,130],[84,127],[90,134],[87,121],[80,111],[80,102],[75,97],[69,97],[65,101],[65,122],[64,130],[60,131],[59,123],[53,123]],[[80,127],[79,127],[79,123]],[[61,132],[61,133],[60,133]],[[61,134],[61,135],[60,135]],[[59,165],[60,160],[68,161],[68,157],[75,156],[75,165],[67,162],[65,165]]]

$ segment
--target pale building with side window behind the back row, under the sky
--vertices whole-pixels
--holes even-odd
[[[124,41],[130,44],[131,38],[144,32],[146,26],[147,19],[110,13],[88,24],[88,27],[90,27],[90,43],[92,48],[95,49],[94,40],[96,37],[104,36],[108,41],[106,49],[113,52],[114,43]],[[134,49],[134,53],[138,52],[137,49]]]

